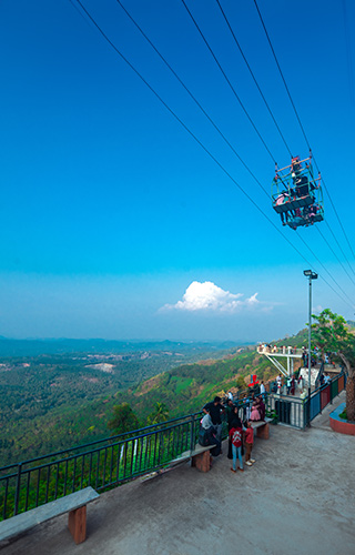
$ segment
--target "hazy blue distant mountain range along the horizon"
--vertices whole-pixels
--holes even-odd
[[[38,356],[72,353],[132,353],[138,351],[221,351],[245,345],[244,342],[205,341],[114,341],[114,340],[12,340],[0,336],[0,356]]]

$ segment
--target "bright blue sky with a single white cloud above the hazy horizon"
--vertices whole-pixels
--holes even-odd
[[[308,268],[313,310],[354,320],[354,2],[257,1],[326,185],[295,232],[268,195],[290,153],[219,3],[184,1],[0,2],[0,335],[272,341],[305,325]],[[254,1],[220,6],[306,158]]]

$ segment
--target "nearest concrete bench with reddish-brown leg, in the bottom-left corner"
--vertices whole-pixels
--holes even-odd
[[[69,513],[68,527],[75,544],[80,544],[87,538],[87,504],[98,497],[99,494],[92,487],[85,487],[80,492],[71,493],[65,497],[11,516],[11,518],[0,522],[0,542],[22,534],[38,524],[54,518],[54,516]]]

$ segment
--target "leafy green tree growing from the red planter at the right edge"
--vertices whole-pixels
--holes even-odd
[[[325,309],[318,316],[312,315],[313,341],[325,352],[335,353],[344,363],[346,380],[347,418],[355,421],[355,335],[343,316]]]

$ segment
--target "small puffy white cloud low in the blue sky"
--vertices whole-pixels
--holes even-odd
[[[250,299],[243,300],[242,293],[230,293],[224,291],[211,281],[201,283],[193,281],[185,291],[182,301],[175,304],[165,304],[165,310],[179,311],[215,311],[215,312],[236,312],[242,309],[257,306],[260,301],[254,293]]]

